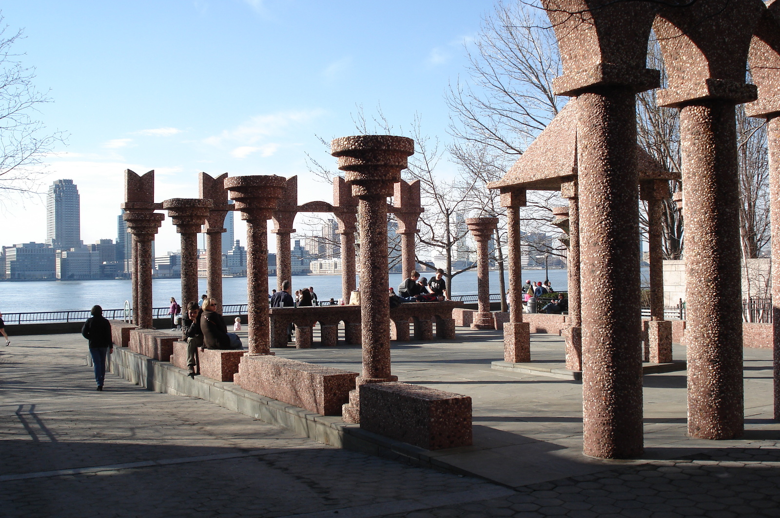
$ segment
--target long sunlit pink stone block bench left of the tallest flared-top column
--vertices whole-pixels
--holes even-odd
[[[242,389],[322,415],[341,415],[357,372],[271,355],[246,355],[233,381]]]

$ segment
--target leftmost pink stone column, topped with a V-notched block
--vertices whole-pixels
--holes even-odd
[[[125,203],[122,203],[122,219],[127,230],[133,235],[132,283],[133,283],[133,323],[139,329],[152,327],[152,286],[151,270],[154,258],[151,254],[151,241],[165,219],[165,214],[154,212],[161,209],[161,203],[154,203],[154,171],[143,176],[125,170]]]

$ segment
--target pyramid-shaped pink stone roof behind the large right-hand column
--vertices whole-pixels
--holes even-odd
[[[677,180],[680,174],[667,171],[658,160],[651,157],[638,144],[636,160],[639,179]],[[547,128],[528,146],[503,178],[491,181],[490,189],[517,187],[542,191],[557,191],[561,183],[573,181],[577,176],[577,103],[568,104]]]

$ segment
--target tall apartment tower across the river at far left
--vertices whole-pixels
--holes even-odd
[[[55,180],[46,197],[46,244],[69,250],[81,245],[79,189],[73,180]]]

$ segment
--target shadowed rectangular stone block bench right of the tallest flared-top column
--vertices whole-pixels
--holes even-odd
[[[402,382],[361,385],[360,428],[424,449],[471,446],[471,398]]]

